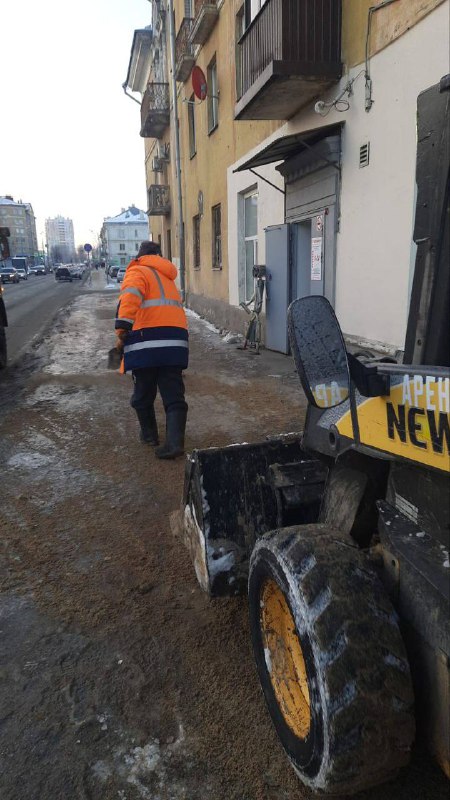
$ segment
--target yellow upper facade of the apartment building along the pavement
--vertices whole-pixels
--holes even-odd
[[[327,40],[325,44],[330,52],[334,47],[334,56],[329,55],[327,59],[323,53],[318,55],[321,33],[320,30],[317,33],[317,21],[314,26],[311,23],[311,30],[308,29],[308,4],[302,0],[245,0],[244,3],[242,0],[174,0],[174,72],[184,255],[180,252],[170,4],[152,4],[149,55],[145,61],[134,42],[130,59],[131,67],[133,52],[135,66],[141,58],[140,88],[135,77],[139,69],[133,74],[129,69],[127,81],[130,88],[143,93],[141,135],[145,138],[150,229],[153,238],[161,242],[163,253],[179,266],[184,265],[189,306],[208,316],[218,327],[243,330],[245,315],[239,303],[248,298],[243,298],[240,290],[233,291],[233,285],[238,283],[233,273],[240,268],[235,249],[245,244],[238,241],[239,219],[237,222],[234,219],[241,213],[230,180],[235,165],[248,154],[273,143],[278,136],[281,139],[295,134],[301,136],[305,131],[307,134],[320,132],[334,122],[345,123],[348,127],[352,123],[350,113],[344,117],[336,113],[339,109],[330,108],[326,119],[314,114],[317,99],[328,99],[330,93],[337,95],[350,77],[364,71],[366,55],[376,64],[379,54],[395,45],[442,4],[448,5],[448,0],[385,0],[376,6],[372,0],[333,0],[328,5],[335,41]],[[313,41],[313,29],[318,41]],[[322,38],[327,36],[329,32],[324,24]],[[279,42],[277,37],[280,37]],[[286,41],[290,43],[290,50],[282,49]],[[312,45],[310,47],[311,42],[315,50]],[[264,48],[273,50],[271,62],[265,69],[259,69],[259,62],[264,62],[266,57]],[[195,67],[201,69],[206,79],[205,99],[194,95],[192,69]],[[378,78],[376,85],[377,110],[381,106],[380,90],[383,90],[380,80]],[[150,106],[148,103],[146,106],[144,93],[148,93],[146,86],[163,84],[167,102],[164,101],[162,122],[156,114],[155,127],[152,120],[156,119],[159,101],[156,102],[150,92]],[[359,86],[363,86],[361,78]],[[144,124],[147,111],[152,123],[149,127]],[[358,125],[363,129],[364,118],[361,119]],[[368,115],[365,125],[368,131],[370,121]],[[345,133],[342,141],[345,144]],[[264,175],[267,179],[267,173]],[[274,209],[273,219],[270,214],[267,219],[260,215],[259,238],[263,237],[266,221],[269,225],[284,222],[286,203],[280,197],[283,183],[280,184],[276,173],[269,176],[269,181],[278,185],[278,195],[273,190],[273,201],[270,187],[263,185],[260,177],[248,174],[248,185],[265,198],[264,208],[270,209],[273,205]],[[347,181],[349,191],[350,187],[353,192],[351,182]],[[338,193],[344,193],[345,188],[342,182]],[[263,242],[259,252],[264,253]],[[339,296],[342,288],[339,287],[338,263],[336,282]],[[347,325],[350,333],[352,324]]]

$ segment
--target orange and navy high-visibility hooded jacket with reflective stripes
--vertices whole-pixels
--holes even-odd
[[[116,329],[129,331],[125,372],[144,367],[186,369],[189,334],[175,286],[177,268],[161,256],[141,256],[128,265],[122,281]]]

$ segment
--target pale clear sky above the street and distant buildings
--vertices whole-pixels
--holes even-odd
[[[104,217],[146,209],[139,107],[122,89],[148,0],[14,0],[1,12],[0,195],[74,223],[76,244]]]

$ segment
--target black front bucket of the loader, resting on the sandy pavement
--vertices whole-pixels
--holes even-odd
[[[183,538],[201,587],[211,596],[246,592],[256,540],[314,522],[326,475],[297,435],[194,450],[186,461]]]

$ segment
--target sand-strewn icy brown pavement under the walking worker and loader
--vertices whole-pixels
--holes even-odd
[[[246,599],[210,601],[170,531],[184,461],[140,444],[131,380],[107,370],[115,304],[81,294],[2,376],[0,795],[311,797],[265,709]],[[301,428],[289,358],[189,327],[187,450]],[[361,797],[445,791],[419,752]]]

